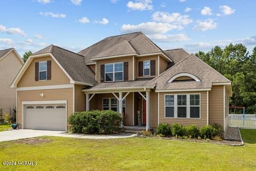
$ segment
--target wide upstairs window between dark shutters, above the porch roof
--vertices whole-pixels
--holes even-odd
[[[105,64],[105,82],[123,81],[123,63]]]

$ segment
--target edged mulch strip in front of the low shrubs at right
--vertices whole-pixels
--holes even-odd
[[[212,143],[212,144],[218,144],[218,145],[229,145],[229,146],[243,146],[243,142],[241,141],[228,141],[228,140],[222,140],[222,141],[215,141],[210,140],[206,141],[204,139],[198,140],[198,139],[179,139],[175,137],[158,137],[158,136],[144,136],[144,135],[137,135],[137,137],[140,138],[157,138],[157,139],[167,139],[167,140],[178,140],[178,141],[191,141],[191,142],[197,142],[197,143]]]

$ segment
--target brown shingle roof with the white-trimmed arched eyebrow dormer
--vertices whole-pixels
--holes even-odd
[[[189,73],[200,79],[200,82],[172,82],[167,83],[173,76],[179,73]],[[217,72],[210,65],[204,63],[194,54],[188,55],[183,60],[160,74],[158,77],[150,81],[149,85],[157,84],[156,90],[165,89],[199,89],[211,88],[214,83],[231,83],[226,77]]]

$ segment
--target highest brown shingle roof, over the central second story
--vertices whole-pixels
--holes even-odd
[[[122,47],[125,47],[124,51]],[[84,56],[86,64],[93,63],[92,60],[102,57],[129,55],[132,53],[138,56],[162,53],[163,56],[171,61],[162,49],[148,39],[142,32],[108,37],[79,52],[80,55]]]

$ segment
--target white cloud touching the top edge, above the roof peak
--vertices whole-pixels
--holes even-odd
[[[136,2],[129,1],[127,3],[127,7],[132,10],[139,10],[139,11],[153,9],[152,0],[136,0]]]

